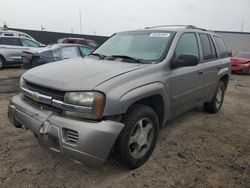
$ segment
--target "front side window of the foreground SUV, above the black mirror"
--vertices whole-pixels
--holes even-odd
[[[185,33],[181,36],[176,46],[174,56],[178,59],[180,55],[188,54],[195,55],[198,58],[200,57],[195,33]]]

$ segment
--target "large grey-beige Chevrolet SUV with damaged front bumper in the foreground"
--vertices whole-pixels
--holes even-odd
[[[213,32],[194,26],[121,32],[83,59],[24,73],[8,116],[76,161],[102,164],[112,151],[134,169],[151,156],[167,121],[197,104],[220,110],[230,72],[224,42]]]

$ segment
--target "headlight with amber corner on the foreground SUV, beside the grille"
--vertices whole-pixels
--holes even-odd
[[[104,109],[105,96],[100,92],[67,92],[64,96],[64,103],[91,107],[91,112],[89,113],[64,111],[65,115],[100,119]]]

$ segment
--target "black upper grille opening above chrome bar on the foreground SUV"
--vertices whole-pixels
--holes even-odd
[[[43,95],[51,96],[53,99],[63,101],[63,97],[65,94],[64,91],[46,88],[46,87],[39,86],[39,85],[30,83],[30,82],[25,82],[25,84],[26,84],[26,87],[28,89],[30,89],[31,91],[36,91],[36,92],[41,93]]]

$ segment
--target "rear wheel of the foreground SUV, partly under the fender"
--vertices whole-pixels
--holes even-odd
[[[224,82],[219,81],[213,100],[209,103],[204,103],[204,110],[206,112],[215,114],[220,110],[223,104],[225,90]]]

